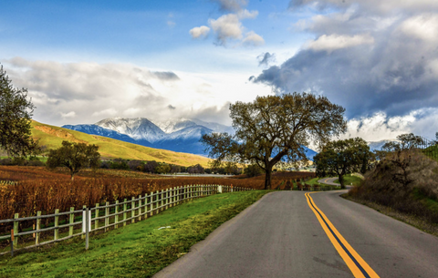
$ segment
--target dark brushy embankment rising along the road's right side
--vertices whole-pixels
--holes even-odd
[[[438,162],[415,147],[418,137],[399,140],[383,148],[381,160],[347,197],[438,235]]]

